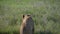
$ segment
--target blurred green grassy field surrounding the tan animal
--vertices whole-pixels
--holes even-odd
[[[0,0],[0,34],[19,34],[22,14],[34,15],[35,34],[60,34],[60,0]]]

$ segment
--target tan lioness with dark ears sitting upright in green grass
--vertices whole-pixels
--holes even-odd
[[[31,15],[23,15],[20,34],[34,34],[34,21]]]

